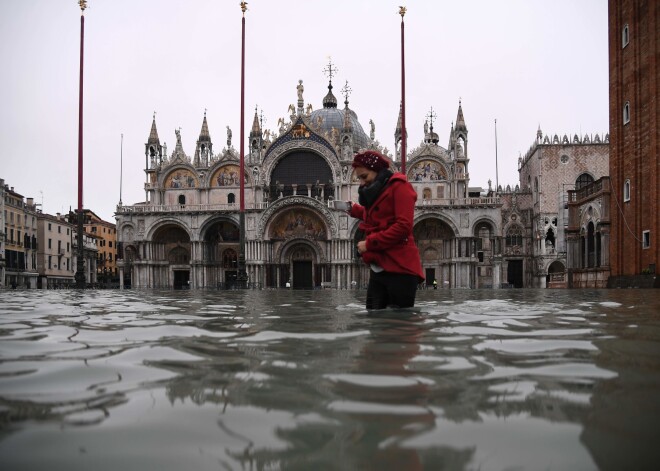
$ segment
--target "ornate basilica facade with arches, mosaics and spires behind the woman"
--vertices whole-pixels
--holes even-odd
[[[368,267],[356,257],[358,221],[331,209],[332,200],[357,201],[353,155],[376,149],[400,169],[401,125],[394,155],[367,134],[346,97],[337,106],[332,82],[322,107],[297,106],[275,132],[255,112],[244,161],[245,263],[254,288],[360,288]],[[232,287],[240,252],[240,158],[231,143],[214,153],[204,116],[193,155],[176,131],[171,154],[156,120],[145,145],[146,201],[117,207],[121,283],[134,288]],[[406,158],[418,194],[414,236],[429,285],[500,287],[501,203],[494,192],[471,192],[468,130],[459,102],[447,147],[433,123]],[[522,244],[522,242],[521,242]]]

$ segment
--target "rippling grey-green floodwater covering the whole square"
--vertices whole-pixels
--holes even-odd
[[[0,292],[3,470],[660,462],[659,290]]]

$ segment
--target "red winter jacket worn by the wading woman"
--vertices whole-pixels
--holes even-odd
[[[412,234],[417,193],[402,173],[393,174],[369,208],[353,204],[350,215],[361,219],[365,233],[365,263],[376,263],[391,273],[417,275],[424,281],[419,250]]]

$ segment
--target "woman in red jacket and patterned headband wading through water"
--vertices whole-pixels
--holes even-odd
[[[412,234],[417,193],[376,151],[357,154],[353,168],[360,204],[353,204],[349,214],[362,220],[358,228],[364,238],[357,250],[371,267],[367,309],[414,306],[417,285],[424,281]]]

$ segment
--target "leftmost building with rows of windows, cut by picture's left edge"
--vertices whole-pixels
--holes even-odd
[[[4,183],[4,182],[3,182]],[[37,287],[37,218],[32,198],[24,201],[14,187],[3,185],[4,286]]]

